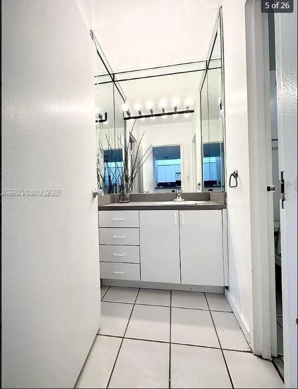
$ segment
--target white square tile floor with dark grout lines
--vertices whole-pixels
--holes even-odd
[[[223,294],[102,287],[102,324],[77,388],[282,388]]]

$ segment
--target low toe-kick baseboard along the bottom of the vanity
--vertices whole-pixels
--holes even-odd
[[[185,291],[206,292],[206,293],[224,293],[223,286],[164,284],[164,283],[160,283],[160,282],[124,281],[124,280],[107,280],[107,279],[102,279],[102,285],[104,285],[104,286],[126,286],[126,287],[132,287],[132,288],[185,290]]]

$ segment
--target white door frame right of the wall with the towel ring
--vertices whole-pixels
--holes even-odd
[[[245,4],[249,186],[252,252],[251,346],[265,359],[277,356],[275,258],[269,82],[268,15],[260,0]]]

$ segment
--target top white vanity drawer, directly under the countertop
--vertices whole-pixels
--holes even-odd
[[[139,227],[139,211],[99,211],[99,227]]]

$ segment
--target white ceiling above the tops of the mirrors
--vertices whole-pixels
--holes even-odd
[[[221,0],[77,0],[114,72],[206,59]]]

